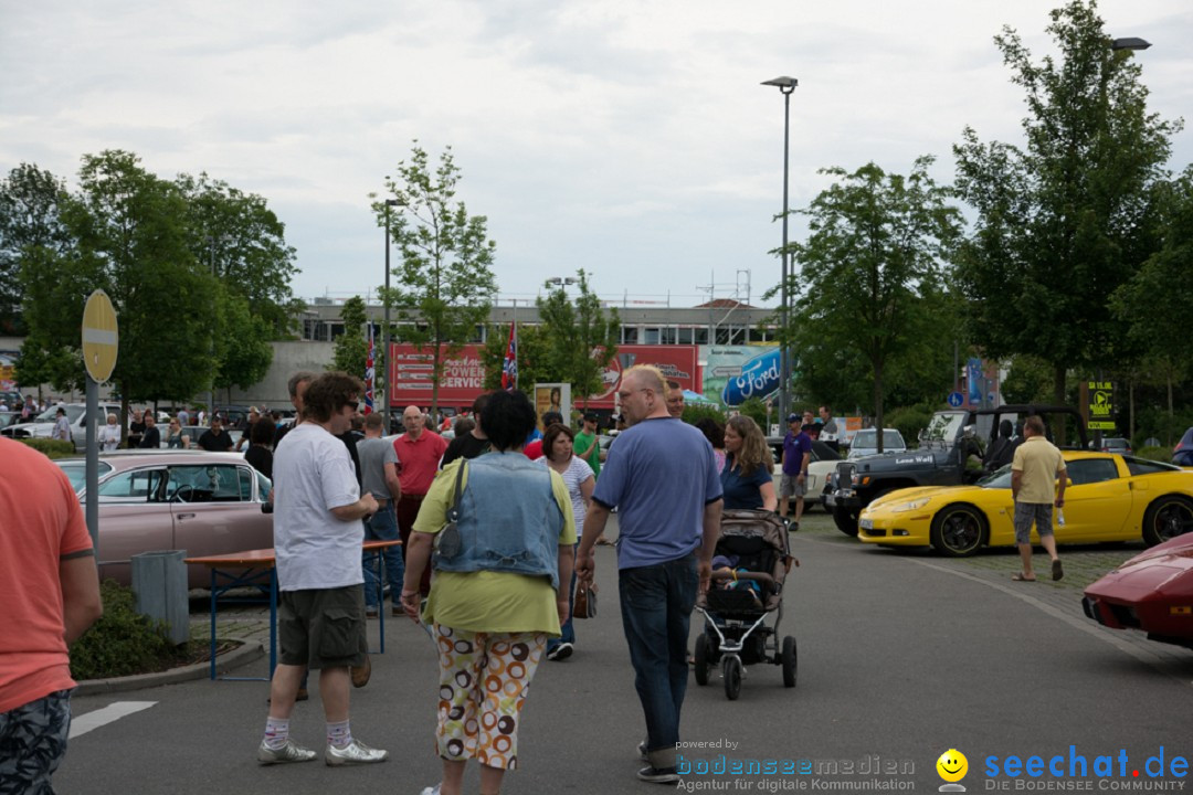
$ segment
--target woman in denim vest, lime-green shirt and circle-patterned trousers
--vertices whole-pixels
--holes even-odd
[[[534,410],[521,392],[495,392],[481,427],[493,452],[435,477],[406,551],[402,607],[432,627],[439,650],[443,781],[424,795],[457,795],[469,759],[481,764],[482,794],[501,789],[518,766],[526,688],[568,619],[576,526],[563,478],[521,453]],[[434,577],[420,614],[428,561]]]

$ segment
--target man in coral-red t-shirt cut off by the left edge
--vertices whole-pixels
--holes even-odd
[[[73,642],[103,611],[95,555],[70,482],[0,439],[0,791],[54,789],[70,731]]]

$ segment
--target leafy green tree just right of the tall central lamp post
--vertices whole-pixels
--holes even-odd
[[[802,211],[810,235],[791,244],[802,269],[787,287],[799,308],[790,334],[802,375],[815,379],[817,369],[836,368],[834,352],[836,361],[853,359],[854,367],[854,356],[864,361],[878,427],[891,364],[933,333],[939,302],[932,298],[942,294],[944,261],[959,232],[948,192],[928,176],[932,162],[920,157],[908,176],[874,163],[852,174],[822,169],[839,181]]]

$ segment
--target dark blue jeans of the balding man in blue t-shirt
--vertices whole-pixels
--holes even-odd
[[[633,685],[647,719],[647,750],[655,768],[675,766],[679,715],[687,691],[687,629],[697,586],[694,553],[653,566],[623,569],[618,578],[622,626],[636,675]]]

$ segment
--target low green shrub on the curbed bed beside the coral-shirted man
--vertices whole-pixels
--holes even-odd
[[[103,679],[163,671],[179,660],[161,622],[136,610],[136,595],[112,579],[100,584],[104,615],[70,646],[70,676]]]

